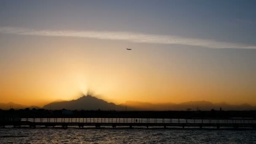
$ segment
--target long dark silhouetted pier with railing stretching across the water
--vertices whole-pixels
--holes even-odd
[[[162,128],[253,128],[256,129],[256,119],[229,118],[229,119],[166,119],[166,118],[5,118],[0,120],[0,127],[62,127],[104,126],[117,127],[162,127]]]

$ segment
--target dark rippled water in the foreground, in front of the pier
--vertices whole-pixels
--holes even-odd
[[[255,130],[162,128],[0,128],[5,143],[256,144]]]

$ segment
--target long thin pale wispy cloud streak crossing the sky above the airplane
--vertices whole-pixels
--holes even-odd
[[[102,40],[125,40],[132,43],[178,44],[200,46],[205,48],[246,48],[256,49],[256,45],[239,43],[226,43],[216,40],[179,37],[175,35],[154,35],[136,32],[112,32],[112,31],[74,31],[74,30],[36,30],[22,27],[0,27],[2,34],[37,35],[55,37],[84,37]]]

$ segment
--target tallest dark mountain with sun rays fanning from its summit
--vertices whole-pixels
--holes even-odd
[[[82,96],[79,99],[72,101],[59,101],[52,102],[43,106],[44,109],[70,109],[70,110],[124,110],[125,107],[116,105],[114,103],[108,103],[102,99],[98,99],[91,95]]]

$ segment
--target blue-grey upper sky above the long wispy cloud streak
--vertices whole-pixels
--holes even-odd
[[[1,1],[1,26],[132,31],[255,45],[253,0]]]

